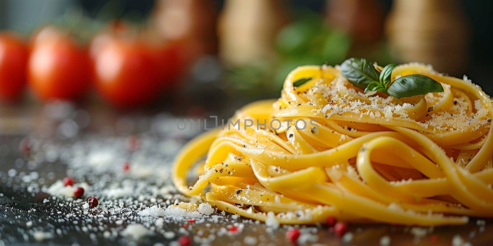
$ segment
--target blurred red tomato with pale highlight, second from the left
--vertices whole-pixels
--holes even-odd
[[[43,99],[74,100],[90,86],[91,65],[85,49],[77,46],[68,34],[35,37],[28,63],[31,89]]]

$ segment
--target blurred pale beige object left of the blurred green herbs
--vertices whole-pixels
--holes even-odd
[[[285,16],[278,0],[226,0],[218,23],[221,60],[237,66],[273,58]]]

